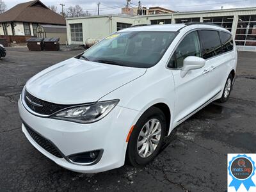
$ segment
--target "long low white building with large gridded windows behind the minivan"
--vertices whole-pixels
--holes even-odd
[[[85,44],[88,38],[101,39],[137,24],[210,22],[231,31],[239,49],[256,51],[256,7],[163,15],[100,15],[67,19],[68,44]]]

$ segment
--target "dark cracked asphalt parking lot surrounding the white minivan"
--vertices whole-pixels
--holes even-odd
[[[82,174],[61,168],[29,143],[17,108],[31,76],[81,50],[7,52],[0,59],[0,191],[227,191],[227,154],[256,152],[256,53],[239,52],[228,102],[214,102],[179,125],[152,163]]]

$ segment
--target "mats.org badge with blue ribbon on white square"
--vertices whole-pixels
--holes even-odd
[[[256,192],[256,154],[228,154],[228,192]]]

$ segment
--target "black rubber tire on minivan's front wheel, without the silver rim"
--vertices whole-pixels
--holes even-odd
[[[141,157],[137,150],[137,141],[140,135],[141,129],[143,129],[143,126],[152,119],[159,120],[161,124],[161,137],[159,139],[159,143],[157,147],[155,148],[154,152],[150,154],[148,157]],[[134,126],[134,129],[132,130],[131,136],[129,138],[129,143],[127,146],[127,152],[126,152],[126,162],[131,164],[132,166],[141,166],[144,164],[149,163],[154,159],[154,157],[157,156],[159,153],[159,150],[161,148],[161,145],[164,140],[166,132],[166,119],[164,116],[163,111],[161,111],[159,108],[152,107],[147,109],[143,115],[141,115],[140,119]]]

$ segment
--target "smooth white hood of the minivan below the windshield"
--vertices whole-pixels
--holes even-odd
[[[146,70],[71,58],[36,74],[26,83],[26,90],[48,102],[83,104],[99,100]]]

